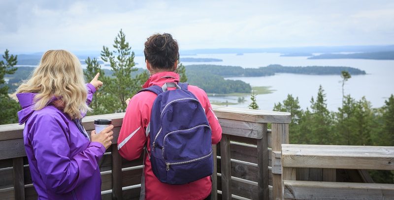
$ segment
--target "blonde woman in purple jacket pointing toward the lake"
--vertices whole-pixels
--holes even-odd
[[[79,59],[66,50],[44,53],[19,100],[33,185],[39,200],[101,199],[99,159],[111,145],[113,126],[89,136],[81,119],[91,109],[99,74],[85,85]]]

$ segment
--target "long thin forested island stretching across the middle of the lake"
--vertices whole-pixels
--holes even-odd
[[[341,75],[348,71],[351,75],[365,75],[365,71],[352,67],[307,66],[285,67],[282,65],[268,65],[260,68],[242,68],[223,65],[188,65],[186,72],[209,72],[213,75],[230,76],[267,76],[275,73],[303,74],[303,75]]]

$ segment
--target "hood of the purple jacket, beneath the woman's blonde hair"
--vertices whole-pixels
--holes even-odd
[[[33,114],[35,95],[37,95],[37,94],[36,93],[19,93],[16,95],[16,97],[19,100],[19,104],[22,107],[22,110],[20,110],[18,112],[18,121],[19,121],[20,125],[25,123],[29,119],[29,117]],[[51,100],[49,100],[48,103],[51,103],[54,100],[57,100],[57,98],[53,97]]]

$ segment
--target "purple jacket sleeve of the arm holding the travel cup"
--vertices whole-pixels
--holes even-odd
[[[97,168],[105,148],[97,142],[70,157],[66,122],[51,115],[37,116],[29,132],[35,159],[46,188],[56,194],[72,191]]]

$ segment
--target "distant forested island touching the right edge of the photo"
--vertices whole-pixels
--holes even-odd
[[[309,57],[308,59],[394,60],[394,51],[364,52],[364,53],[350,53],[350,54],[325,53],[325,54]]]

